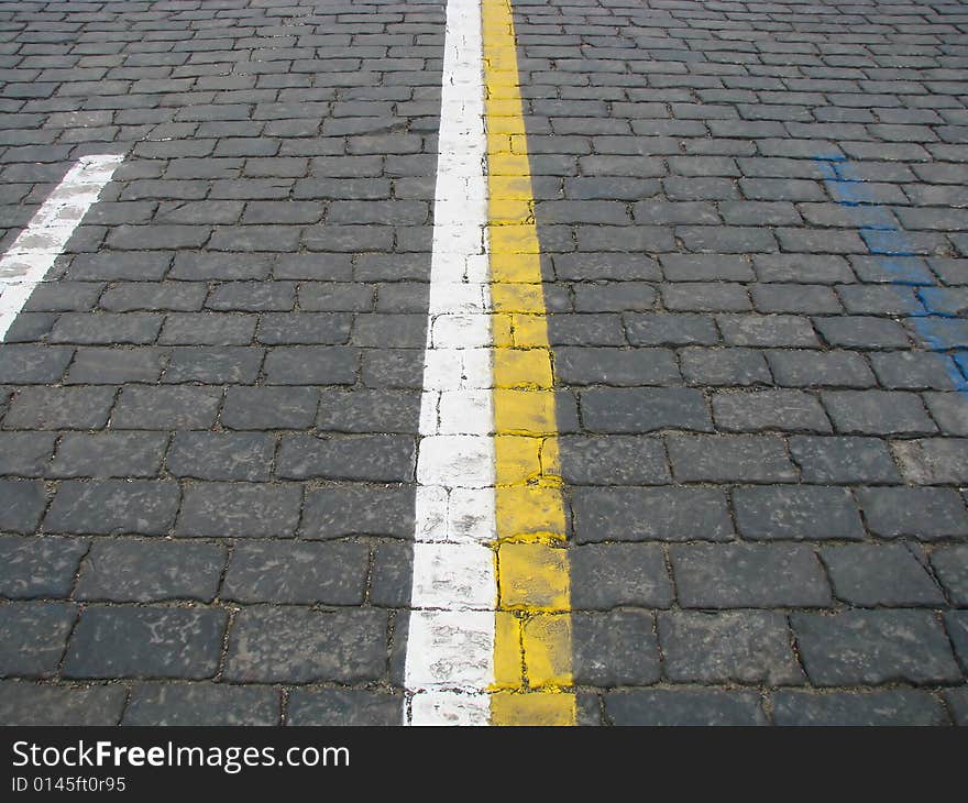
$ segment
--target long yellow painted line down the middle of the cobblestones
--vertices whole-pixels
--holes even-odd
[[[494,725],[574,725],[551,348],[509,0],[482,0],[494,337]]]

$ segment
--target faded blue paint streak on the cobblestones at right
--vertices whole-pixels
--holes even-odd
[[[925,275],[920,260],[912,258],[917,250],[886,207],[873,201],[864,179],[857,178],[846,156],[816,156],[814,162],[827,191],[840,206],[851,210],[857,233],[868,251],[880,257],[878,264],[890,284],[914,286],[909,310],[911,326],[931,351],[953,352],[945,356],[945,370],[955,391],[968,399],[968,320],[942,307],[943,288],[934,277]]]

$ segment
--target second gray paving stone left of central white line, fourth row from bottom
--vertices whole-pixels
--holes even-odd
[[[187,485],[175,528],[179,536],[287,538],[299,522],[301,488],[267,483]]]

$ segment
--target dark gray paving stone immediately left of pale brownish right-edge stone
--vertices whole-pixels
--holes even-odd
[[[789,443],[804,482],[855,485],[900,481],[887,444],[878,438],[795,436]]]

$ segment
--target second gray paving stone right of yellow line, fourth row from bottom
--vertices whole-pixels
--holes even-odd
[[[733,492],[736,524],[751,540],[857,540],[864,526],[847,488],[773,485]]]

